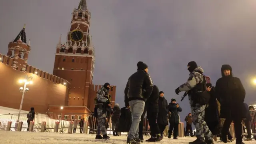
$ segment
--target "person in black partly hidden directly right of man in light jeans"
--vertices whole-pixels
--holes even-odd
[[[151,137],[146,142],[159,142],[162,140],[158,124],[156,122],[158,117],[158,94],[159,90],[156,85],[153,87],[153,91],[146,101],[147,118],[150,126]]]

